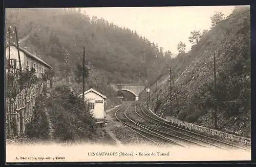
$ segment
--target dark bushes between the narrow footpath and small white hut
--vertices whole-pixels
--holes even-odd
[[[95,120],[83,100],[73,96],[69,87],[57,87],[47,99],[47,106],[59,141],[84,141],[97,137]]]

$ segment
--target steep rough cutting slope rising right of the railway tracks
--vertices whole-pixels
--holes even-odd
[[[177,64],[186,67],[179,71],[177,64],[171,65],[176,69],[174,82],[178,98],[172,101],[172,113],[169,113],[168,75],[158,81],[159,100],[156,100],[156,85],[151,87],[153,109],[162,117],[171,115],[214,128],[214,55],[218,129],[250,137],[249,7],[236,7],[230,16],[204,35],[198,45],[188,53],[178,55]]]

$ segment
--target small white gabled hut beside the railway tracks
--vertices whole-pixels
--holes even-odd
[[[79,95],[81,97],[82,94]],[[106,96],[94,89],[84,92],[84,101],[90,108],[90,113],[99,122],[104,121],[106,112]]]

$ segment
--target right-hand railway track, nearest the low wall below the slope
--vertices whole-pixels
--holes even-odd
[[[137,103],[136,103],[137,105]],[[223,142],[223,141],[220,141],[220,140],[217,140],[216,138],[212,138],[212,137],[209,137],[209,136],[206,136],[206,135],[202,135],[202,134],[199,134],[199,133],[196,133],[196,132],[192,132],[192,131],[189,131],[189,130],[186,130],[186,129],[182,129],[180,127],[177,127],[177,126],[174,126],[172,124],[169,124],[169,123],[166,123],[162,120],[160,120],[159,118],[156,118],[155,116],[150,116],[150,114],[146,114],[145,111],[143,110],[143,108],[141,107],[141,104],[139,103],[140,105],[140,110],[141,110],[141,113],[143,113],[143,116],[141,114],[139,114],[136,110],[136,114],[152,123],[152,124],[155,124],[157,125],[158,127],[162,127],[164,129],[167,129],[167,130],[170,130],[172,132],[174,132],[174,134],[179,134],[179,136],[182,136],[182,138],[186,138],[189,140],[193,139],[193,140],[196,140],[198,141],[198,143],[200,142],[201,145],[203,146],[213,146],[213,147],[217,147],[217,148],[220,148],[220,149],[225,149],[225,150],[230,150],[230,149],[242,149],[242,150],[246,150],[246,151],[250,151],[250,149],[247,149],[247,148],[243,148],[243,147],[240,147],[240,146],[236,146],[236,145],[233,145],[233,144],[230,144],[230,143],[227,143],[227,142]],[[149,113],[149,112],[148,112]],[[176,135],[176,136],[177,136]]]

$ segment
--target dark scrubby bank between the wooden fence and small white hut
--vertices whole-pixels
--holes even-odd
[[[49,94],[37,97],[34,119],[27,124],[26,135],[36,141],[99,142],[100,129],[84,106],[82,99],[74,96],[69,87],[56,87]],[[54,132],[49,135],[49,113]]]

